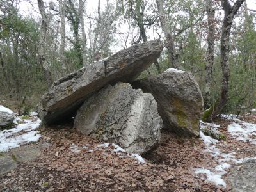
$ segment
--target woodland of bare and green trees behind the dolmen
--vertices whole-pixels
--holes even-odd
[[[24,1],[33,14],[22,13]],[[98,0],[97,5],[90,10],[89,0],[0,0],[0,99],[16,100],[26,112],[52,81],[160,38],[166,47],[161,58],[140,77],[186,70],[200,84],[205,109],[218,104],[227,81],[223,113],[256,107],[256,12],[246,1]],[[228,22],[227,49],[221,49],[228,13],[234,20]]]

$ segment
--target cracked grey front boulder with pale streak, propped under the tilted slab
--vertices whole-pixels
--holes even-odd
[[[108,85],[77,111],[74,127],[83,134],[144,154],[159,145],[162,120],[150,93],[129,83]]]

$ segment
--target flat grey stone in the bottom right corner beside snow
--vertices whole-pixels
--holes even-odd
[[[226,179],[232,186],[232,192],[255,192],[256,160],[237,164],[232,168]]]

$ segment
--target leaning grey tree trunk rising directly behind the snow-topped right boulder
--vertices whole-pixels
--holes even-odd
[[[159,13],[161,28],[163,29],[164,36],[165,36],[165,41],[166,41],[165,47],[169,52],[170,60],[173,65],[173,68],[180,69],[181,67],[179,65],[179,62],[177,61],[177,54],[175,52],[175,46],[173,42],[171,27],[168,24],[169,22],[167,19],[167,15],[164,13],[163,0],[156,0],[156,4],[157,4],[157,10]]]

